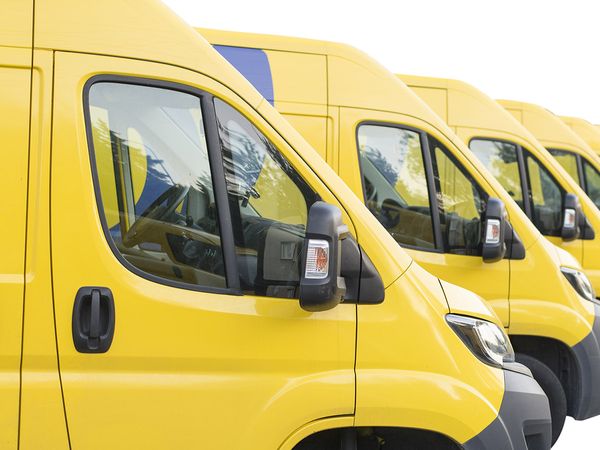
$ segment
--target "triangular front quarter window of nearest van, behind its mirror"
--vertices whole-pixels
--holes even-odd
[[[245,117],[214,105],[242,290],[297,297],[308,211],[319,197]]]

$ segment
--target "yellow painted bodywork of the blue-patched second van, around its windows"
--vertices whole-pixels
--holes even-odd
[[[514,325],[519,333],[552,337],[567,345],[573,345],[589,334],[593,312],[589,303],[585,303],[574,293],[560,273],[556,250],[545,245],[546,241],[508,193],[473,157],[451,128],[434,114],[436,112],[446,118],[453,114],[447,106],[453,93],[446,89],[446,81],[426,86],[426,95],[431,102],[428,106],[399,79],[391,76],[368,56],[348,46],[280,36],[200,31],[213,44],[263,49],[269,61],[274,53],[281,52],[298,55],[298,58],[306,54],[327,57],[328,102],[324,106],[327,106],[328,119],[331,121],[330,129],[333,129],[334,135],[339,136],[339,141],[327,140],[309,127],[300,125],[298,130],[309,140],[320,139],[327,142],[326,151],[321,153],[327,154],[328,162],[359,197],[364,197],[356,151],[357,127],[361,123],[375,121],[399,124],[424,130],[435,136],[450,149],[458,162],[489,195],[504,201],[509,219],[525,244],[527,257],[523,261],[503,260],[484,264],[481,258],[411,249],[408,252],[433,274],[473,290],[487,299],[511,333]],[[271,66],[275,86],[283,86],[285,83],[294,86],[300,82],[300,77],[295,73],[296,64],[291,63],[289,57],[287,60],[287,66],[279,66],[277,69]],[[287,118],[288,113],[285,108],[278,106],[277,100],[275,91],[275,106]],[[299,94],[294,101],[302,104],[303,98]],[[493,120],[490,122],[493,123]],[[574,264],[577,266],[576,262]],[[531,280],[535,279],[543,279],[548,290],[544,289],[540,293],[532,288]],[[548,297],[550,292],[552,295]],[[519,306],[522,302],[543,304],[547,298],[552,299],[551,303],[555,307],[547,309],[550,315],[544,320],[536,318],[535,314],[539,311],[536,310],[534,314]],[[450,308],[454,307],[460,306],[451,302]],[[564,309],[569,309],[571,314],[563,314],[561,311]],[[585,318],[585,325],[580,321],[582,317]]]

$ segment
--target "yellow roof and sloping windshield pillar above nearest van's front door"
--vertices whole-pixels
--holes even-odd
[[[35,0],[34,23],[33,47],[36,49],[157,62],[217,80],[273,125],[319,177],[328,180],[329,188],[343,205],[365,208],[256,88],[160,0]],[[368,215],[354,219],[366,223],[365,226],[379,225]],[[389,255],[396,264],[380,268],[386,283],[397,278],[411,263],[410,256],[395,247],[390,248]]]

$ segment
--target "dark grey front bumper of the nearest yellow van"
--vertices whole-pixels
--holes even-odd
[[[504,399],[498,417],[464,450],[549,450],[552,420],[548,398],[524,366],[504,370]],[[514,370],[513,370],[514,369]]]

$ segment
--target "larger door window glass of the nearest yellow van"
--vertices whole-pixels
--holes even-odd
[[[159,280],[226,287],[200,99],[98,82],[88,101],[99,209],[115,253]]]

